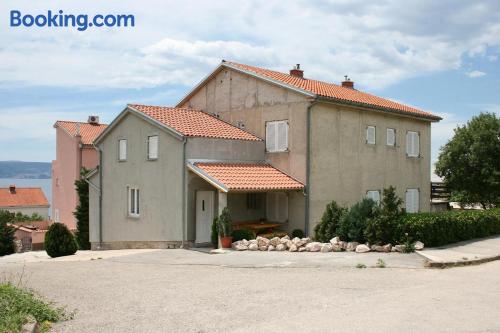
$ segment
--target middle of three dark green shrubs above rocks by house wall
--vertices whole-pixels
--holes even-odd
[[[337,232],[340,239],[347,242],[365,243],[364,231],[368,219],[378,214],[377,204],[369,198],[364,198],[342,216]]]

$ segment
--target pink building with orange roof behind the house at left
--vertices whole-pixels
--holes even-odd
[[[99,117],[90,116],[88,122],[58,120],[56,129],[56,159],[52,161],[52,219],[69,229],[76,229],[73,216],[78,196],[75,181],[82,168],[99,165],[99,155],[92,146],[94,139],[108,125],[99,124]]]

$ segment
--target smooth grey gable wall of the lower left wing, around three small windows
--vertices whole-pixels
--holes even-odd
[[[159,157],[154,161],[147,160],[150,135],[159,136]],[[119,162],[118,140],[122,138],[127,139],[127,161]],[[100,145],[103,149],[103,242],[125,246],[126,242],[181,241],[182,142],[138,116],[128,114]],[[128,216],[128,186],[140,190],[138,218]],[[93,197],[92,205],[95,203]],[[91,224],[90,231],[93,239],[95,224]]]

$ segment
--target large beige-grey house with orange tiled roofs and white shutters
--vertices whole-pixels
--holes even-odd
[[[430,209],[430,130],[440,118],[342,85],[223,61],[176,108],[129,105],[96,139],[94,248],[206,243],[236,221],[310,234],[331,200]],[[102,209],[99,209],[102,207]]]

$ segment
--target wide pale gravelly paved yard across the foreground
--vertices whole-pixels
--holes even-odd
[[[56,332],[500,331],[500,261],[438,270],[386,254],[388,268],[359,269],[380,255],[117,254],[4,260],[0,271],[24,267],[26,285],[77,309]]]

